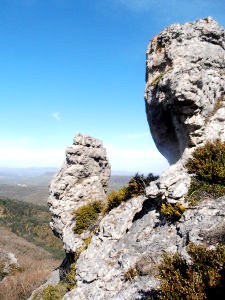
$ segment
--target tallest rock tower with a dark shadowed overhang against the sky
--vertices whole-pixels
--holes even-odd
[[[225,31],[212,18],[175,24],[154,37],[146,83],[150,130],[170,164],[205,139],[225,138]]]

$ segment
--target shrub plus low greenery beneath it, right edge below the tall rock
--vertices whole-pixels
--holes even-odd
[[[187,161],[186,167],[194,177],[187,200],[196,204],[205,197],[220,197],[225,194],[225,143],[209,141],[197,148]]]

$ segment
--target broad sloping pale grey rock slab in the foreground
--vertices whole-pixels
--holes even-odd
[[[77,288],[63,299],[149,299],[159,288],[155,275],[161,254],[178,251],[188,259],[188,243],[212,245],[224,239],[224,217],[225,197],[206,200],[172,225],[160,218],[156,203],[132,199],[102,220],[77,262]],[[129,281],[125,275],[130,268],[140,275]]]

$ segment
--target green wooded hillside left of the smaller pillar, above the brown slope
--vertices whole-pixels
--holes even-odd
[[[54,236],[47,207],[21,201],[0,199],[0,225],[50,252],[55,258],[63,258],[61,241]]]

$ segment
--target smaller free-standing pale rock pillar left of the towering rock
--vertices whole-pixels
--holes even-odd
[[[48,205],[52,214],[50,226],[63,240],[67,253],[75,253],[88,236],[75,235],[73,211],[94,201],[104,201],[108,190],[110,165],[102,142],[77,134],[66,149],[66,160],[50,184]]]

